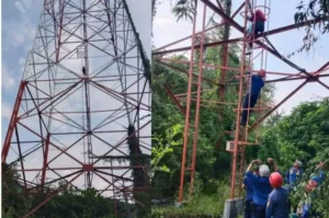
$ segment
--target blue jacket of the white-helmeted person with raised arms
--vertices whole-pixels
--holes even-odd
[[[246,172],[246,176],[253,186],[253,203],[259,206],[266,206],[268,197],[272,192],[269,176],[254,175],[252,171]]]

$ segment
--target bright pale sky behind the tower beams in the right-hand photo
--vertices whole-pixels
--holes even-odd
[[[162,1],[163,2],[163,1]],[[213,0],[213,2],[216,2]],[[265,5],[264,0],[258,0],[258,5]],[[266,5],[269,7],[269,2],[266,1]],[[284,4],[283,4],[284,2]],[[235,0],[232,1],[232,11],[242,3],[242,0]],[[272,1],[270,13],[266,11],[269,16],[269,30],[277,28],[281,26],[290,25],[294,23],[294,12],[296,11],[296,7],[298,5],[299,0],[290,0],[290,1]],[[216,4],[216,3],[215,3]],[[171,4],[170,1],[164,1],[157,8],[157,15],[154,20],[154,45],[155,47],[161,47],[169,43],[172,43],[177,39],[180,39],[184,36],[192,34],[192,23],[189,21],[180,21],[177,23],[177,19],[171,13]],[[260,9],[264,9],[260,7]],[[202,12],[203,12],[203,3],[200,1],[197,13],[200,14],[197,18],[197,31],[201,30],[202,23]],[[207,18],[213,15],[213,11],[207,9]],[[220,18],[215,16],[215,20],[219,23]],[[236,16],[236,21],[242,25],[242,16],[238,14]],[[266,24],[268,25],[268,24]],[[268,26],[265,27],[268,28]],[[270,36],[269,39],[271,43],[276,47],[276,49],[283,54],[288,55],[303,46],[303,37],[305,36],[305,32],[303,28],[285,32],[282,34],[276,34]],[[234,37],[241,37],[241,34],[238,33],[236,30],[232,28],[231,31],[231,38]],[[315,46],[315,49],[310,53],[303,53],[296,54],[290,60],[304,68],[308,71],[316,71],[322,65],[325,65],[329,60],[329,34],[320,35],[318,43]],[[177,46],[169,47],[182,47],[182,46],[190,46],[191,41],[185,41]],[[326,49],[327,47],[327,49]],[[265,60],[264,60],[265,61]],[[260,69],[260,58],[256,59],[253,62],[256,68]],[[264,62],[263,62],[264,66]],[[275,71],[275,72],[297,72],[295,69],[287,66],[285,62],[281,61],[276,57],[272,56],[271,54],[268,55],[266,58],[266,70]],[[329,70],[327,71],[327,73]],[[275,77],[269,76],[266,79],[273,79]],[[321,79],[322,82],[329,84],[329,79]],[[275,84],[275,102],[281,101],[290,92],[294,90],[294,88],[298,87],[302,81],[295,82],[281,82]],[[329,96],[329,90],[324,88],[318,83],[309,83],[306,84],[298,93],[296,93],[290,101],[283,104],[280,107],[288,113],[292,107],[296,106],[303,101],[314,100],[317,96]]]

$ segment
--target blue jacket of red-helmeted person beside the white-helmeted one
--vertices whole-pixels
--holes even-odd
[[[290,215],[288,190],[273,190],[269,196],[266,218],[287,218]]]

